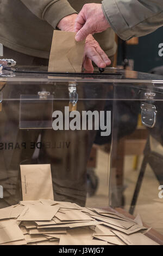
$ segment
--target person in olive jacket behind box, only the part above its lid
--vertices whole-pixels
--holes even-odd
[[[48,66],[53,30],[74,32],[77,13],[90,0],[5,0],[0,9],[0,43],[4,45],[4,58],[14,58],[17,64]],[[96,3],[101,3],[96,0]],[[105,68],[116,52],[114,31],[88,35],[83,66],[93,70]],[[102,50],[103,49],[103,50]],[[110,61],[110,59],[111,61]]]

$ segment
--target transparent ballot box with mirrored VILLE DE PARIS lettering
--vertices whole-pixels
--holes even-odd
[[[0,208],[122,208],[163,233],[163,80],[108,68],[0,76]]]

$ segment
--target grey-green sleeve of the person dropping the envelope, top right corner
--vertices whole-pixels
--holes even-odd
[[[104,0],[102,8],[110,26],[123,40],[163,26],[162,0]]]

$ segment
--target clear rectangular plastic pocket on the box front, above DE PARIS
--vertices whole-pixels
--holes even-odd
[[[52,129],[53,96],[46,91],[20,97],[20,129]]]

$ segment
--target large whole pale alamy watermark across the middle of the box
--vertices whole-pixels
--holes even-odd
[[[60,110],[53,112],[53,130],[101,130],[101,136],[111,134],[111,111],[71,111],[65,106],[64,114]]]

